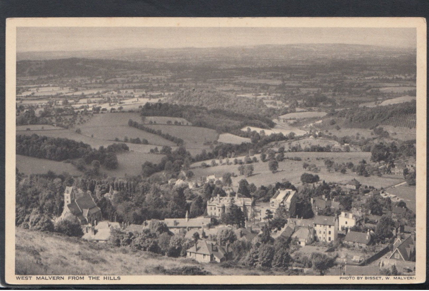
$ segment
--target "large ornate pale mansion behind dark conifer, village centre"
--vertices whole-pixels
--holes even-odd
[[[252,203],[253,198],[238,197],[236,193],[235,197],[230,196],[230,192],[227,193],[227,197],[211,197],[207,201],[207,214],[210,216],[221,217],[222,213],[225,213],[228,206],[233,202],[236,206],[240,207],[247,220],[252,217]]]

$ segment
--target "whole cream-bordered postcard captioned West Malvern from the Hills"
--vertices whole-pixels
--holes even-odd
[[[13,23],[9,281],[424,282],[426,22],[329,19]]]

